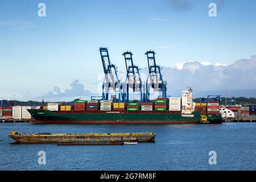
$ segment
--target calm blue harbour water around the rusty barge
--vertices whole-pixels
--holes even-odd
[[[11,131],[27,133],[156,133],[155,143],[123,146],[17,144]],[[0,123],[1,170],[255,170],[256,123],[222,125],[35,125]],[[5,139],[5,140],[4,140]],[[46,165],[38,164],[46,152]],[[209,165],[209,151],[217,165]]]

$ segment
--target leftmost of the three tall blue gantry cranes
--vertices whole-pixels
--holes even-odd
[[[108,48],[100,48],[101,61],[104,69],[105,78],[102,83],[102,100],[109,99],[109,91],[113,89],[118,92],[118,102],[121,102],[122,84],[118,78],[117,67],[110,62]],[[116,96],[111,96],[116,100]]]

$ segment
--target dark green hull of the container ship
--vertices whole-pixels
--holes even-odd
[[[28,110],[36,123],[199,123],[200,113],[53,113],[49,110]],[[209,115],[209,121],[220,123],[221,115]]]

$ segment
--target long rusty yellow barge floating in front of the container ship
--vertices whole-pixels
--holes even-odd
[[[155,142],[154,133],[84,133],[84,134],[51,134],[36,133],[24,134],[13,131],[9,134],[11,139],[18,143],[57,143],[72,139],[136,139],[137,142]]]

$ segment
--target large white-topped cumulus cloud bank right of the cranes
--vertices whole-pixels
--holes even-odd
[[[195,96],[225,94],[230,96],[239,92],[240,96],[256,97],[256,56],[242,59],[231,65],[210,64],[208,62],[189,61],[176,64],[176,68],[163,67],[164,80],[168,83],[168,94],[181,96],[181,91],[191,86]],[[142,69],[147,72],[146,69]],[[246,95],[246,92],[250,94]]]

